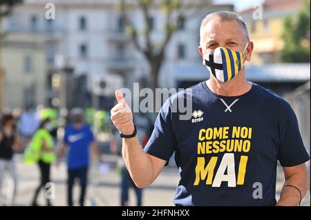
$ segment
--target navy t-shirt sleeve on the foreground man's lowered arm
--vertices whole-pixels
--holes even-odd
[[[290,105],[288,105],[288,114],[281,123],[278,158],[281,166],[291,167],[305,163],[310,156],[303,145],[296,114]]]

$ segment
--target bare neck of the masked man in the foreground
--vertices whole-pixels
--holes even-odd
[[[205,83],[209,90],[215,94],[224,97],[235,97],[245,94],[252,88],[252,83],[247,81],[243,75],[244,74],[241,74],[237,76],[238,78],[227,81],[226,83],[221,83],[215,77],[211,77],[209,80],[205,81]]]

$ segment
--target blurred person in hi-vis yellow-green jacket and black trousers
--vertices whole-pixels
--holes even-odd
[[[30,141],[30,146],[26,150],[26,157],[31,154],[33,161],[37,161],[40,170],[40,183],[35,190],[35,195],[32,199],[32,206],[38,206],[37,197],[42,188],[48,190],[47,183],[50,182],[50,165],[55,161],[55,150],[53,137],[50,134],[50,119],[41,121],[38,130]],[[46,205],[52,206],[49,197],[45,194]]]

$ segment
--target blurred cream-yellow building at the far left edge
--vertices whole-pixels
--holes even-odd
[[[0,50],[2,57],[3,108],[34,107],[46,99],[46,57],[43,34],[12,32],[6,34]]]

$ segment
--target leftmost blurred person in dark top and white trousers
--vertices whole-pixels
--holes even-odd
[[[3,197],[3,181],[5,174],[12,177],[12,195],[6,198],[5,206],[12,206],[15,203],[17,192],[17,170],[14,159],[14,152],[22,150],[14,130],[15,119],[12,114],[3,114],[1,117],[0,130],[0,201]]]

